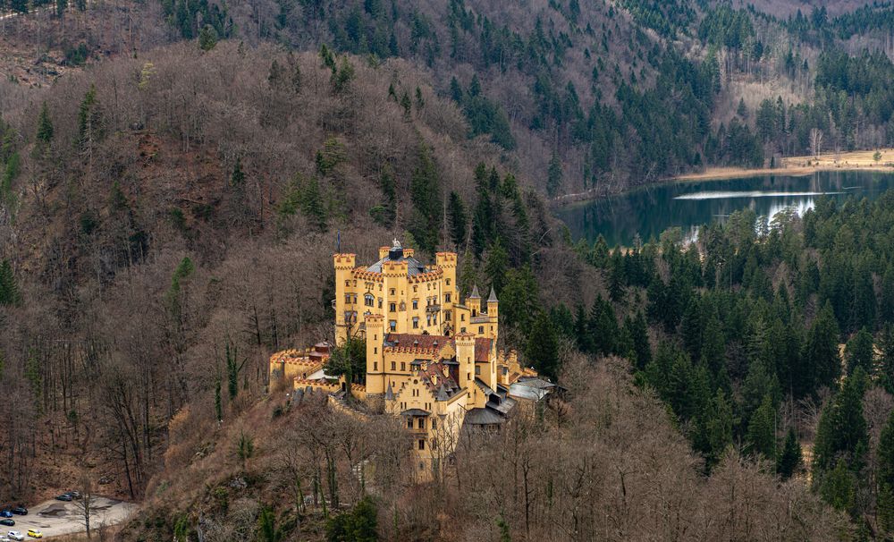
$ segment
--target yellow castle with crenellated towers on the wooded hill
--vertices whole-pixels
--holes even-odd
[[[462,428],[499,428],[519,401],[543,399],[554,387],[523,368],[515,351],[498,351],[499,301],[477,286],[460,300],[457,255],[438,252],[434,266],[394,241],[379,260],[357,267],[355,254],[334,254],[335,346],[366,342],[366,385],[350,394],[405,419],[419,470],[449,455]],[[277,352],[272,374],[296,390],[347,394],[349,383],[325,374],[332,345]]]

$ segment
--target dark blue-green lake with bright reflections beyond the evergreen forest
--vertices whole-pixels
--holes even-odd
[[[595,199],[556,209],[577,241],[593,242],[602,234],[609,246],[631,245],[658,239],[673,226],[694,237],[698,227],[723,221],[734,211],[752,208],[772,220],[782,209],[804,212],[816,199],[848,197],[875,199],[894,188],[894,174],[871,172],[817,172],[791,177],[762,175],[721,181],[686,181],[654,184],[611,198]]]

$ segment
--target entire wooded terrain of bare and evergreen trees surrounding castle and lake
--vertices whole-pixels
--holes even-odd
[[[548,211],[890,143],[890,4],[9,7],[0,501],[92,479],[145,503],[121,533],[144,540],[894,529],[894,199],[627,250]],[[333,336],[336,240],[371,261],[392,237],[457,250],[501,346],[567,390],[425,490],[387,419],[267,375]]]

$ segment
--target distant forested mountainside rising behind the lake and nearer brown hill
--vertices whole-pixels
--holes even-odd
[[[502,159],[550,196],[619,191],[706,165],[773,166],[894,137],[887,2],[49,7],[34,4],[30,22],[9,25],[17,42],[32,44],[27,54],[46,62],[55,52],[50,64],[60,68],[200,35],[406,59],[460,108],[469,138],[499,145]]]

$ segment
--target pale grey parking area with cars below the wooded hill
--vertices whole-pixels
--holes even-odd
[[[137,504],[96,497],[94,511],[90,514],[90,529],[120,523],[138,508]],[[24,534],[28,529],[38,529],[45,537],[55,537],[84,531],[83,511],[76,502],[46,501],[29,507],[27,516],[13,516],[13,520],[15,527],[0,526],[0,533],[18,530]]]

